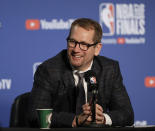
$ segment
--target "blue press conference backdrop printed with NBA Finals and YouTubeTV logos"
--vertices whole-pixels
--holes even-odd
[[[16,96],[32,89],[37,66],[66,48],[79,17],[103,29],[100,55],[119,61],[135,125],[155,124],[154,0],[0,0],[0,126]]]

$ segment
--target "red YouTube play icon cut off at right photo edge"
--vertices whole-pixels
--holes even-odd
[[[155,76],[152,76],[152,77],[147,76],[145,78],[144,83],[145,83],[145,86],[148,88],[155,88]]]

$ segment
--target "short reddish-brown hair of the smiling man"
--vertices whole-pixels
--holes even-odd
[[[96,42],[101,42],[102,39],[102,28],[100,24],[92,19],[89,18],[79,18],[76,19],[72,24],[69,32],[68,38],[71,36],[72,30],[75,26],[80,26],[86,30],[94,30],[94,38],[93,41]]]

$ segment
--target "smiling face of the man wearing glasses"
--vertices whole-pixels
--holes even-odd
[[[79,26],[73,28],[70,36],[71,39],[78,42],[89,44],[94,44],[93,37],[94,30],[86,30]],[[77,70],[86,70],[90,66],[94,56],[99,54],[101,47],[101,43],[97,44],[96,47],[89,47],[87,51],[81,50],[79,44],[75,48],[68,47],[68,57],[71,65]]]

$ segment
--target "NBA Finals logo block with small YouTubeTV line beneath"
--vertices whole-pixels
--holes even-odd
[[[103,44],[145,44],[144,3],[101,3],[99,17]]]

